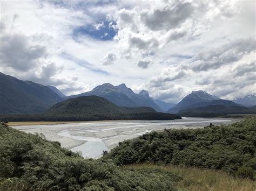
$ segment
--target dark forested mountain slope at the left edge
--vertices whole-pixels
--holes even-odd
[[[35,114],[61,101],[49,87],[0,72],[0,114]]]

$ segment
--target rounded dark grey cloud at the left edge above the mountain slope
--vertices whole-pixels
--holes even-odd
[[[47,56],[44,46],[31,45],[22,34],[0,37],[0,63],[15,70],[27,71],[38,65],[38,59]]]

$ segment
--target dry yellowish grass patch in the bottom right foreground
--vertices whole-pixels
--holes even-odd
[[[178,190],[214,190],[214,191],[254,191],[256,190],[256,181],[248,179],[239,179],[225,172],[214,171],[212,169],[200,169],[193,167],[183,167],[174,165],[129,165],[134,171],[143,169],[154,169],[163,173],[171,172],[174,175],[181,176],[174,186]]]

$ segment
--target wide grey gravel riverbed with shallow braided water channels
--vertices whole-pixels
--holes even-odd
[[[43,133],[48,140],[58,141],[84,158],[99,158],[102,151],[110,151],[123,140],[132,139],[151,131],[163,129],[196,129],[213,123],[231,124],[232,118],[186,118],[173,121],[106,121],[54,125],[13,126],[27,133]]]

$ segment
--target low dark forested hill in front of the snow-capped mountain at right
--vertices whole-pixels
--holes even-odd
[[[217,117],[228,114],[256,114],[256,108],[241,106],[226,107],[224,105],[207,105],[205,107],[180,110],[177,115],[184,117]]]

